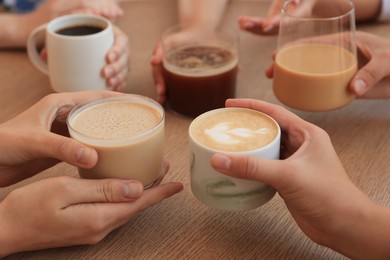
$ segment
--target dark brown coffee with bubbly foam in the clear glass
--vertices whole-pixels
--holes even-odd
[[[224,46],[199,43],[170,50],[163,70],[170,108],[196,117],[224,107],[235,96],[237,68],[237,51]]]

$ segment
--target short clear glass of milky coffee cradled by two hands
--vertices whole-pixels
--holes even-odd
[[[141,181],[159,177],[164,155],[164,109],[139,95],[107,98],[75,107],[67,124],[72,138],[93,147],[98,162],[79,168],[82,178]]]

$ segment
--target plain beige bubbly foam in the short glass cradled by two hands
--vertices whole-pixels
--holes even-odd
[[[82,110],[70,124],[89,138],[115,140],[140,135],[156,127],[161,119],[162,115],[146,104],[115,101]]]

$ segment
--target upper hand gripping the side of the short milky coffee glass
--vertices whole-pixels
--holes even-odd
[[[68,136],[66,118],[77,104],[123,95],[109,91],[51,94],[0,124],[0,186],[29,178],[60,161],[91,168],[97,153]]]

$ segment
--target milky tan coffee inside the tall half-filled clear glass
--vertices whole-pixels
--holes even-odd
[[[273,90],[281,102],[293,108],[336,109],[355,98],[348,84],[356,71],[355,56],[344,48],[330,44],[295,45],[276,55]]]

